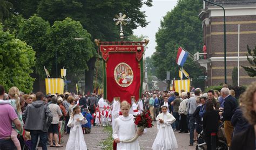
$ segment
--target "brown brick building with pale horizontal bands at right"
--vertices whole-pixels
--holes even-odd
[[[226,12],[226,62],[227,83],[232,84],[232,71],[238,67],[238,25],[240,24],[240,85],[248,85],[256,80],[250,77],[241,66],[249,66],[247,45],[254,49],[256,45],[256,0],[210,0],[222,5]],[[204,43],[207,48],[207,59],[197,59],[206,68],[206,84],[224,83],[224,13],[219,6],[204,2],[199,13],[204,31]],[[203,52],[203,51],[202,51]],[[199,57],[198,57],[199,58]]]

